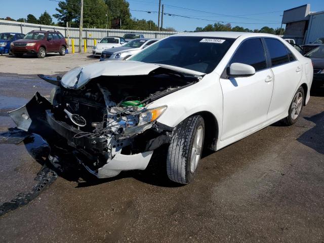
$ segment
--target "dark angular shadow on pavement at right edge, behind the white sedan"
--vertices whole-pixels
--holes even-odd
[[[312,121],[315,127],[302,134],[297,141],[324,154],[324,111],[311,117],[304,117]]]

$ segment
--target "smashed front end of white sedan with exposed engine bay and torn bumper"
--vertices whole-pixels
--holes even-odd
[[[80,73],[71,86],[60,77],[39,77],[55,85],[50,101],[36,93],[10,116],[19,129],[41,135],[51,148],[67,149],[98,178],[145,170],[153,150],[169,143],[173,130],[157,121],[167,105],[148,109],[148,104],[199,80],[167,68],[136,76],[99,75],[80,87]]]

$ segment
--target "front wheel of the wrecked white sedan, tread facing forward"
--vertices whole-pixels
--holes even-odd
[[[203,151],[205,123],[193,115],[176,126],[171,134],[167,153],[167,173],[170,180],[188,184],[193,180]]]

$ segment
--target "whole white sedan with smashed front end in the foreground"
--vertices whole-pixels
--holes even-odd
[[[55,85],[50,101],[36,93],[10,115],[18,128],[66,144],[98,178],[144,170],[165,147],[170,180],[187,184],[203,147],[219,150],[280,119],[294,124],[312,73],[310,59],[275,35],[185,33],[127,61],[39,75]]]

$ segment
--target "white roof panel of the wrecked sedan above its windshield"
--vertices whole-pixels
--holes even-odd
[[[276,36],[274,34],[266,34],[266,33],[233,32],[233,31],[185,32],[185,33],[180,33],[180,34],[175,34],[175,35],[176,36],[223,37],[223,38],[235,38],[235,39],[238,38],[239,36],[245,36],[245,37],[257,37],[257,36],[273,37],[273,36]]]

